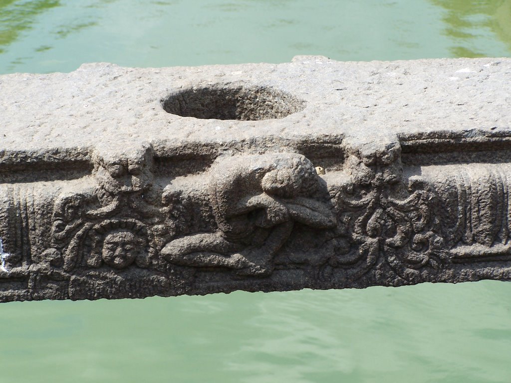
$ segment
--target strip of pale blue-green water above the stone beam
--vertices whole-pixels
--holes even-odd
[[[511,0],[0,0],[0,73],[510,52]]]

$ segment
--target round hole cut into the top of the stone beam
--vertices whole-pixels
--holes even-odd
[[[202,87],[162,100],[166,112],[183,117],[257,121],[283,118],[305,108],[305,101],[269,87]]]

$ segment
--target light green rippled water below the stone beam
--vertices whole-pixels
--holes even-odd
[[[481,281],[6,303],[0,381],[508,383],[510,293]]]

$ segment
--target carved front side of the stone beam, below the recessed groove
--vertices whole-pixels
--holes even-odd
[[[18,229],[2,227],[0,298],[508,278],[511,165],[431,164],[420,145],[381,134],[182,160],[146,144],[97,150],[76,179],[3,184]]]

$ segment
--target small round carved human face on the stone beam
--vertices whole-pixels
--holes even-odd
[[[141,245],[134,233],[116,230],[105,237],[102,257],[108,266],[122,269],[131,265],[141,251]]]

